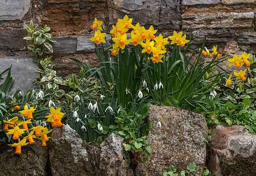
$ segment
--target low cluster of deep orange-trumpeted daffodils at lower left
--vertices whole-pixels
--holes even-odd
[[[15,154],[21,154],[21,146],[27,145],[27,144],[33,144],[35,141],[33,138],[42,140],[42,146],[46,146],[46,142],[49,141],[50,137],[47,136],[52,130],[48,130],[47,127],[42,127],[41,125],[37,125],[36,121],[35,127],[28,128],[28,123],[32,123],[31,120],[33,119],[32,112],[34,112],[36,108],[33,108],[29,105],[25,105],[23,111],[19,111],[21,113],[21,116],[23,117],[22,120],[19,120],[18,117],[13,117],[11,119],[6,118],[4,121],[4,130],[6,130],[7,135],[13,135],[12,139],[17,140],[16,143],[9,144],[11,146],[16,147]],[[54,109],[51,107],[50,109],[50,115],[46,116],[48,119],[46,122],[51,122],[52,127],[61,127],[62,122],[61,119],[64,116],[64,113],[61,112],[61,108]],[[27,118],[25,120],[25,118]],[[31,131],[30,133],[28,131]],[[26,132],[26,136],[24,135]],[[22,140],[20,139],[21,137]],[[29,140],[29,142],[26,142]]]

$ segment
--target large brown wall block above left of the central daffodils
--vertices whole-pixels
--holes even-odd
[[[91,32],[90,27],[95,17],[98,21],[108,23],[106,2],[56,2],[58,1],[48,1],[42,19],[43,25],[47,24],[51,28],[53,36],[88,34]]]

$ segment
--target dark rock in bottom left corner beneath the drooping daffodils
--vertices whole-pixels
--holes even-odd
[[[47,175],[48,147],[43,147],[41,141],[35,141],[33,145],[36,154],[29,146],[22,146],[21,159],[19,155],[15,154],[15,147],[2,142],[0,146],[0,175]]]

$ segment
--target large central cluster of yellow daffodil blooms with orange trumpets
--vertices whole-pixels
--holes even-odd
[[[91,29],[98,28],[102,30],[99,26],[102,24],[102,21],[97,21],[94,19],[93,26]],[[131,39],[127,39],[126,32],[131,30]],[[186,40],[186,35],[182,36],[183,33],[179,34],[173,31],[173,36],[169,36],[167,38],[163,38],[160,34],[159,36],[155,36],[157,30],[154,30],[153,26],[150,26],[148,30],[145,27],[141,27],[138,22],[135,26],[132,25],[132,18],[128,18],[127,15],[124,16],[123,19],[118,19],[116,25],[112,26],[112,30],[110,31],[112,40],[114,44],[110,49],[111,55],[116,56],[119,55],[120,48],[124,49],[125,46],[129,43],[132,43],[134,46],[141,45],[143,47],[142,53],[152,54],[150,59],[153,63],[163,62],[162,58],[164,57],[164,53],[166,53],[165,45],[167,45],[168,39],[171,40],[171,44],[176,43],[176,45],[184,46],[189,40]],[[103,39],[106,36],[105,33],[101,33],[100,31],[96,31],[94,37],[90,40],[94,41],[96,44],[105,43]]]

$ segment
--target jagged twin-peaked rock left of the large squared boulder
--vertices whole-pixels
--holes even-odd
[[[55,128],[49,144],[52,175],[132,176],[123,142],[112,134],[96,147],[88,145],[69,125]]]

